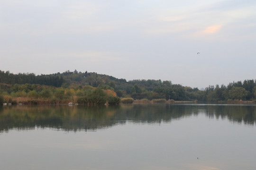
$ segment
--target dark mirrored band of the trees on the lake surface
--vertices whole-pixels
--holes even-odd
[[[198,114],[205,114],[210,119],[229,119],[238,124],[254,125],[256,122],[255,105],[6,106],[0,107],[0,132],[35,127],[95,131],[127,121],[161,123]]]

